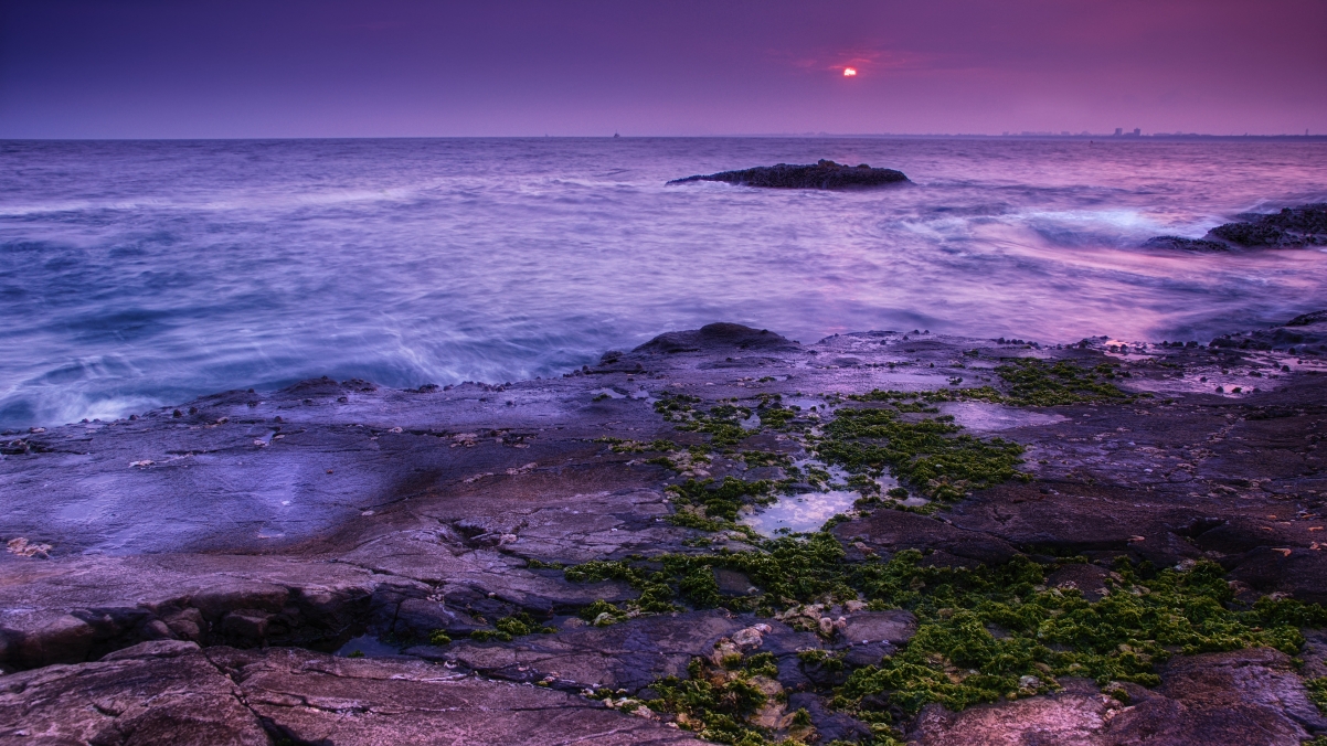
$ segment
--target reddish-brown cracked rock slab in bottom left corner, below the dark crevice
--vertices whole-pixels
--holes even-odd
[[[24,743],[695,743],[560,692],[283,648],[139,646],[0,682],[0,739]]]

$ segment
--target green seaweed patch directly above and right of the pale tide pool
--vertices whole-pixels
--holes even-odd
[[[969,490],[1010,479],[1031,479],[1018,471],[1023,446],[1002,438],[981,439],[940,418],[900,419],[889,409],[840,409],[824,426],[816,453],[853,474],[878,475],[885,469],[941,502],[963,498]]]

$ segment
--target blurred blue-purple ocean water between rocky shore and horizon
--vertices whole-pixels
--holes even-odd
[[[914,183],[665,186],[820,158]],[[549,377],[711,321],[1206,342],[1327,308],[1327,252],[1140,244],[1323,200],[1322,142],[0,142],[0,427]]]

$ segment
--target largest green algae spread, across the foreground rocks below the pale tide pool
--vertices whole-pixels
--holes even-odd
[[[770,539],[752,551],[596,561],[565,573],[573,581],[625,580],[642,589],[642,597],[653,593],[649,604],[658,609],[722,605],[770,615],[798,604],[859,600],[872,611],[913,612],[917,633],[898,653],[857,668],[841,686],[821,692],[836,709],[871,723],[876,743],[892,743],[896,718],[910,718],[932,702],[961,710],[1054,692],[1060,676],[1093,678],[1105,688],[1120,681],[1154,686],[1157,664],[1170,656],[1251,646],[1295,654],[1304,642],[1300,628],[1327,625],[1320,605],[1273,597],[1237,603],[1221,567],[1209,561],[1160,572],[1145,563],[1119,561],[1105,580],[1107,596],[1095,603],[1078,589],[1046,587],[1047,572],[1083,558],[1048,567],[1023,556],[977,568],[922,561],[924,555],[912,550],[889,560],[849,563],[839,540],[820,531]],[[743,572],[760,591],[723,597],[714,585],[715,568]],[[799,657],[807,665],[843,665],[836,654],[820,650]],[[764,669],[771,662],[750,665]],[[687,727],[703,737],[772,742],[772,734],[743,719],[751,708],[735,708],[726,685],[703,680],[661,685],[656,692],[667,694],[650,706],[685,713]],[[1327,698],[1327,680],[1311,681],[1310,689],[1316,701]],[[715,704],[725,697],[729,705]]]

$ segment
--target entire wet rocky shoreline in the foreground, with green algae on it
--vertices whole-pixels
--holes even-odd
[[[1322,312],[1201,346],[714,324],[8,433],[0,739],[1299,745],[1324,376]]]

